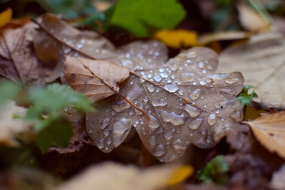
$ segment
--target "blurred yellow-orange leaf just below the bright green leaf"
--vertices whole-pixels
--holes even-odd
[[[155,33],[155,38],[171,48],[185,48],[198,46],[198,35],[195,31],[177,29],[174,31],[161,30]]]

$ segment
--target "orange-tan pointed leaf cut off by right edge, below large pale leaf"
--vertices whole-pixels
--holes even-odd
[[[264,114],[257,120],[243,122],[249,125],[259,142],[285,158],[285,112]]]

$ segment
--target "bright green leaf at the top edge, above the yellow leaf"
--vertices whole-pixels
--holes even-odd
[[[135,36],[150,36],[151,29],[174,28],[186,12],[176,0],[119,0],[110,25]]]

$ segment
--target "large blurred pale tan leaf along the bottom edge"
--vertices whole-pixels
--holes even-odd
[[[123,166],[106,162],[89,167],[83,173],[58,185],[55,189],[162,189],[167,186],[167,181],[176,168],[164,165],[142,170],[132,165]]]

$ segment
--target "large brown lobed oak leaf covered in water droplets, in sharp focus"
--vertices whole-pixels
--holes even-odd
[[[118,147],[133,126],[157,159],[170,162],[190,143],[214,146],[234,120],[242,120],[235,98],[242,74],[214,75],[214,51],[192,48],[156,64],[160,68],[137,70],[120,85],[120,94],[143,113],[119,95],[97,102],[95,112],[87,113],[87,131],[103,152]]]

